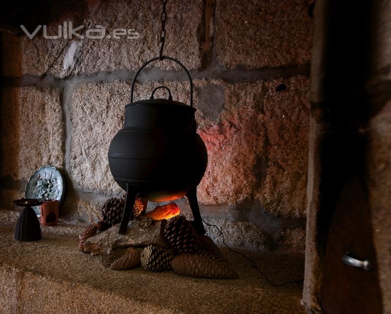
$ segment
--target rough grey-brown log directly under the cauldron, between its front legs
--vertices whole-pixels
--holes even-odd
[[[84,242],[84,249],[92,253],[99,250],[100,253],[102,248],[110,246],[127,247],[149,244],[167,246],[162,233],[166,222],[165,219],[153,220],[151,218],[130,220],[125,235],[118,234],[119,224],[116,224],[108,230],[88,238]]]

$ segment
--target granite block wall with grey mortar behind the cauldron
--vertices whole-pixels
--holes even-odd
[[[1,32],[0,205],[12,208],[33,171],[50,164],[66,178],[62,216],[86,220],[105,199],[124,193],[107,152],[135,72],[158,55],[161,2],[59,2],[44,16],[50,35],[64,22],[90,20],[106,35],[125,28],[140,36],[46,39],[39,31],[29,39],[18,28]],[[234,246],[304,250],[312,2],[167,4],[164,53],[190,70],[209,154],[198,188],[201,214]],[[162,83],[188,102],[184,73],[167,61],[142,72],[135,98]],[[178,204],[190,213],[185,199]],[[215,229],[208,232],[221,241]]]

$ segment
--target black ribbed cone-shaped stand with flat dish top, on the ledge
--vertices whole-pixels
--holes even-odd
[[[18,206],[25,206],[16,223],[15,240],[23,242],[41,240],[41,225],[31,206],[38,206],[43,202],[33,199],[22,199],[16,200],[14,203]]]

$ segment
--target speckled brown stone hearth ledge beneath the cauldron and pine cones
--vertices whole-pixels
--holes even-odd
[[[38,242],[17,242],[18,213],[0,210],[0,313],[304,314],[302,287],[270,286],[251,263],[223,250],[237,280],[182,277],[142,268],[115,271],[77,250],[84,225],[42,227]],[[244,251],[241,251],[244,253]],[[303,277],[302,255],[248,252],[274,283]]]

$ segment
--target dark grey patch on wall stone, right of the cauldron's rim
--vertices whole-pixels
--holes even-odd
[[[198,110],[206,119],[219,121],[220,112],[224,109],[224,90],[222,87],[208,84],[196,89]]]

